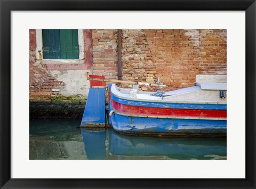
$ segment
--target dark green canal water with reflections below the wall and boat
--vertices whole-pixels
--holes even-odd
[[[226,138],[130,136],[80,128],[77,119],[31,119],[30,160],[227,159]]]

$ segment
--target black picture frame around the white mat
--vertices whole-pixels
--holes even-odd
[[[0,0],[1,188],[255,188],[255,0]],[[186,10],[246,11],[246,178],[245,179],[12,179],[11,178],[11,11]],[[22,123],[21,123],[22,126]],[[239,139],[239,138],[238,138]],[[238,162],[239,163],[239,162]],[[25,170],[26,171],[26,170]]]

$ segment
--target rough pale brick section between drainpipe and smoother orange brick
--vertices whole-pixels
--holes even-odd
[[[156,81],[153,57],[143,30],[122,30],[122,65],[123,80]],[[146,89],[145,86],[140,87]]]

